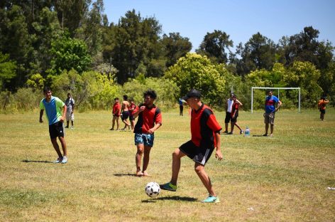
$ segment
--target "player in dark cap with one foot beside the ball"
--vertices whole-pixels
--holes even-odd
[[[160,185],[161,189],[177,191],[177,179],[180,171],[182,157],[189,157],[194,163],[196,171],[202,184],[209,192],[203,203],[217,203],[219,197],[216,195],[211,180],[204,171],[204,165],[211,157],[216,148],[215,157],[222,159],[220,131],[221,126],[216,121],[213,111],[202,103],[201,93],[198,90],[190,90],[182,99],[192,108],[191,111],[191,140],[182,144],[172,153],[172,176],[170,182]]]

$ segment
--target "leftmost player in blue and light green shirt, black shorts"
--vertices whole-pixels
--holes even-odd
[[[45,98],[40,100],[40,122],[43,122],[43,113],[45,110],[46,117],[49,122],[49,134],[53,148],[58,154],[58,158],[54,163],[67,163],[67,147],[64,138],[63,122],[66,115],[66,105],[60,98],[52,96],[51,90],[48,87],[43,89]],[[62,152],[60,152],[60,147],[57,143],[57,137],[62,145]]]

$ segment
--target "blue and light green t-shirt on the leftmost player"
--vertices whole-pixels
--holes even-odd
[[[65,103],[58,97],[51,96],[50,102],[45,101],[45,98],[40,100],[40,110],[45,110],[49,125],[60,121],[62,107],[64,106]]]

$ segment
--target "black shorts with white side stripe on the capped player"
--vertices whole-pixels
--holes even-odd
[[[202,164],[204,166],[209,157],[211,157],[212,152],[214,150],[214,146],[209,147],[197,147],[192,140],[185,142],[179,147],[180,151],[185,153],[187,157],[190,157],[194,162]]]

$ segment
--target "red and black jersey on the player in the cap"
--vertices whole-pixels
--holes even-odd
[[[197,147],[216,147],[214,134],[221,129],[213,111],[207,105],[202,104],[197,111],[192,109],[191,140]]]

